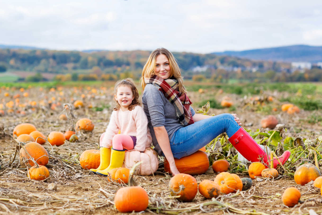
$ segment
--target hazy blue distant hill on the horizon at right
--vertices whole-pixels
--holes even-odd
[[[245,51],[213,52],[212,54],[243,57],[252,60],[273,60],[285,62],[308,61],[311,63],[322,62],[322,46],[294,45]]]

